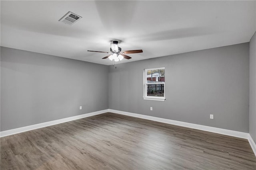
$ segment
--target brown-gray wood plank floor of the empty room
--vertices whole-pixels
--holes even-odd
[[[104,113],[1,138],[1,170],[254,169],[246,139]]]

